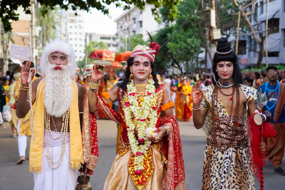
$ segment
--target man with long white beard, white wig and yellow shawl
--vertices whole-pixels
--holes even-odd
[[[76,71],[74,51],[61,41],[46,45],[41,56],[45,78],[35,80],[31,93],[27,93],[29,76],[33,78],[35,73],[33,68],[30,72],[30,65],[25,64],[21,70],[17,116],[25,117],[30,105],[36,103],[29,158],[34,189],[75,189],[83,162],[80,113],[84,89],[71,79]]]

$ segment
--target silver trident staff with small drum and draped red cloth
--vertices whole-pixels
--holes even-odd
[[[260,181],[260,189],[263,190],[263,166],[265,165],[265,155],[260,152],[259,145],[261,143],[261,137],[273,138],[276,135],[276,131],[270,125],[272,115],[269,111],[265,110],[261,112],[267,104],[267,96],[259,92],[255,94],[254,104],[259,108],[255,110],[255,113],[250,115],[247,119],[247,133],[250,138],[249,155],[250,155],[250,170]]]

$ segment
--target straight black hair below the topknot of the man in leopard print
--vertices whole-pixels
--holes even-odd
[[[234,52],[231,52],[229,55],[218,55],[215,53],[214,58],[213,58],[213,67],[212,67],[212,72],[214,73],[215,80],[212,76],[212,82],[213,85],[216,85],[215,81],[218,81],[220,79],[218,72],[216,72],[216,67],[217,63],[221,61],[229,61],[233,63],[233,81],[235,82],[234,85],[237,86],[239,84],[243,84],[243,77],[240,72],[240,67],[239,67],[239,61],[237,59],[237,56]]]

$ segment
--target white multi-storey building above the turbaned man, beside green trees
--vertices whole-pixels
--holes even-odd
[[[158,23],[152,14],[151,9],[153,5],[146,4],[144,10],[140,10],[137,7],[131,7],[118,16],[114,22],[117,23],[117,47],[122,46],[126,51],[132,51],[128,46],[128,40],[121,42],[120,38],[128,39],[132,35],[142,35],[143,39],[148,40],[146,31],[150,34],[155,33],[159,29],[163,28],[163,23]],[[127,43],[126,43],[127,42]]]

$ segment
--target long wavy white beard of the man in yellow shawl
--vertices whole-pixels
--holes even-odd
[[[46,112],[61,117],[70,107],[72,87],[69,71],[47,68],[45,75],[44,105]]]

